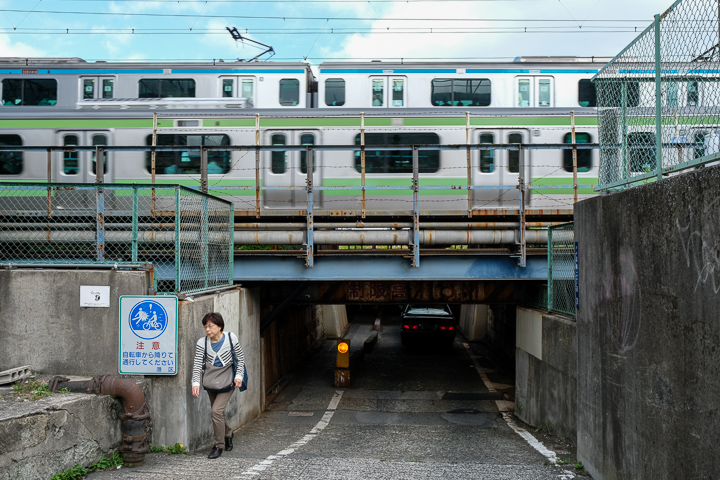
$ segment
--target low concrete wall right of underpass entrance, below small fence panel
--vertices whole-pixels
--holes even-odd
[[[568,317],[517,309],[515,415],[575,441],[577,329]]]

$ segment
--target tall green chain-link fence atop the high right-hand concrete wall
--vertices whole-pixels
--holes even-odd
[[[594,78],[599,190],[716,160],[720,7],[678,0]]]

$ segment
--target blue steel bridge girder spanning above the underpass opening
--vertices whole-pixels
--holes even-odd
[[[419,267],[411,258],[316,257],[313,268],[295,257],[236,257],[236,282],[333,280],[547,280],[547,256],[530,256],[527,266],[504,255],[425,256]]]

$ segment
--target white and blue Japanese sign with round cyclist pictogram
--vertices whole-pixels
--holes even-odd
[[[177,311],[177,297],[120,297],[119,373],[177,374]]]

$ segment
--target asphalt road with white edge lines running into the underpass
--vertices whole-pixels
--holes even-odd
[[[371,331],[370,322],[352,325],[353,350]],[[575,478],[502,415],[501,395],[488,389],[472,350],[458,338],[450,351],[409,352],[399,327],[386,325],[353,372],[352,388],[335,389],[335,341],[327,341],[266,412],[235,432],[235,448],[219,459],[207,459],[209,446],[191,455],[150,454],[142,467],[88,478]]]

